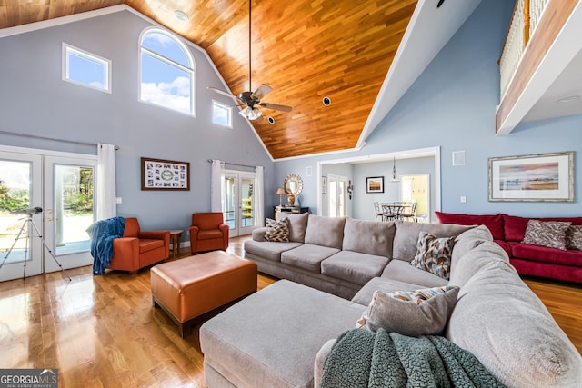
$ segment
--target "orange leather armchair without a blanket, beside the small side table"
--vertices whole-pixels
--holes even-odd
[[[228,230],[222,213],[193,213],[190,226],[192,254],[228,248]]]

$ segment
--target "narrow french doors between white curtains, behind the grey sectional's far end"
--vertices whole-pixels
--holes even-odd
[[[255,174],[225,171],[222,184],[223,213],[229,236],[251,234],[255,226]]]

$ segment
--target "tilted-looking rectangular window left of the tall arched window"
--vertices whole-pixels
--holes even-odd
[[[64,43],[63,80],[111,93],[111,61]]]

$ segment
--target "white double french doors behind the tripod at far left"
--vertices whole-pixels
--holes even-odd
[[[0,147],[0,281],[92,264],[95,155],[13,148]]]

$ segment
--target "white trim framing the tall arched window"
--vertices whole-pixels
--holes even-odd
[[[160,34],[165,34],[165,35],[171,37],[174,41],[176,41],[176,44],[180,45],[180,47],[182,47],[182,50],[184,50],[184,52],[186,53],[186,56],[190,60],[192,68],[188,68],[184,65],[178,64],[177,62],[175,62],[169,58],[166,58],[166,56],[159,55],[158,53],[153,52],[153,51],[147,49],[146,47],[142,46],[142,41],[144,39],[144,35],[152,32],[152,31],[157,31]],[[142,51],[143,50],[146,51],[146,53],[148,55],[156,56],[156,58],[159,59],[160,61],[165,62],[168,65],[174,65],[177,68],[179,68],[180,70],[184,70],[192,75],[192,77],[190,79],[191,80],[191,82],[190,82],[190,87],[191,87],[190,95],[192,97],[190,99],[191,100],[190,101],[190,104],[191,104],[190,108],[192,109],[191,114],[186,114],[184,112],[176,111],[176,109],[168,108],[164,105],[153,104],[153,103],[150,103],[149,101],[142,100]],[[159,27],[146,27],[142,31],[142,33],[139,35],[139,39],[137,41],[137,101],[139,101],[140,103],[143,103],[143,104],[157,106],[158,108],[166,109],[168,111],[175,112],[177,114],[186,114],[189,117],[196,118],[196,61],[194,60],[194,56],[192,55],[190,50],[187,48],[187,46],[184,44],[184,42],[182,41],[182,39],[179,36],[172,34],[172,33],[168,32],[162,28],[159,28]]]

